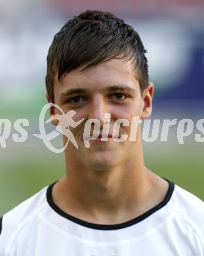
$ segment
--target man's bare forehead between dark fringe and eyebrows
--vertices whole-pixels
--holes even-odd
[[[54,80],[54,95],[58,95],[66,89],[73,87],[96,91],[112,85],[124,84],[134,89],[138,86],[136,72],[133,70],[131,61],[112,59],[83,70],[85,66],[81,66],[64,75],[60,82],[57,81],[56,75]]]

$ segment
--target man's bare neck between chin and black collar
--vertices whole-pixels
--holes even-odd
[[[167,182],[146,169],[142,150],[135,152],[103,171],[66,154],[66,176],[53,188],[54,202],[70,215],[92,223],[121,223],[144,213],[163,200]]]

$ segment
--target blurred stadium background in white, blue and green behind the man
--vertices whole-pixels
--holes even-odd
[[[0,147],[0,216],[64,175],[64,155],[50,152],[39,133],[45,100],[46,56],[64,22],[85,10],[124,18],[148,50],[155,84],[153,118],[204,118],[204,3],[168,1],[0,1],[0,118],[30,120],[28,140]],[[0,131],[2,133],[2,131]],[[11,131],[12,133],[12,131]],[[195,129],[196,133],[196,129]],[[194,134],[195,134],[194,133]],[[60,140],[61,143],[61,140]],[[144,142],[146,165],[204,199],[204,142]]]

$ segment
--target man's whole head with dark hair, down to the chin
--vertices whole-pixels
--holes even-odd
[[[133,117],[146,119],[152,112],[153,85],[148,83],[145,53],[138,33],[123,20],[108,12],[83,12],[64,25],[49,49],[47,99],[64,113],[74,110],[74,121],[99,120],[100,133],[105,114],[110,113],[110,136],[114,136],[115,121],[127,119],[130,125],[121,124],[119,137],[129,136]],[[56,112],[51,109],[51,116]],[[58,125],[58,121],[52,123]],[[68,144],[69,165],[103,170],[137,158],[142,161],[140,136],[136,142],[92,140],[91,147],[85,148],[84,129],[85,122],[70,129],[79,148]]]

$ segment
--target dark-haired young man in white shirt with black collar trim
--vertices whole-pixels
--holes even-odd
[[[74,110],[74,121],[84,118],[70,129],[78,148],[68,143],[60,181],[3,216],[1,256],[204,255],[203,202],[145,167],[140,126],[136,140],[114,140],[118,119],[151,116],[145,53],[138,33],[109,12],[83,12],[55,35],[47,99],[64,113]],[[61,113],[52,106],[50,114]],[[100,121],[100,135],[87,148],[89,119]],[[121,125],[119,138],[130,134],[131,126]]]

